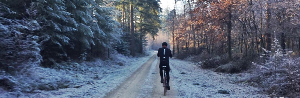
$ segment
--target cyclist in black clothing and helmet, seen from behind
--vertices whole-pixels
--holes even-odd
[[[157,56],[160,57],[159,62],[159,73],[161,75],[161,83],[163,83],[163,66],[166,66],[165,71],[167,74],[167,90],[170,90],[169,85],[169,72],[170,72],[170,64],[169,64],[169,57],[172,58],[171,50],[167,48],[168,44],[166,42],[162,43],[162,48],[158,49]]]

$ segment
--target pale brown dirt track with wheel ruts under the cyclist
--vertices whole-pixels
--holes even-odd
[[[175,88],[172,88],[167,92],[167,96],[164,96],[158,66],[159,60],[156,55],[153,55],[132,76],[104,98],[174,98]],[[172,87],[172,85],[170,86]]]

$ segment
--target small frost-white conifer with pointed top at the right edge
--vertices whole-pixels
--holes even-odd
[[[271,44],[272,50],[263,49],[266,54],[261,56],[265,58],[265,64],[256,66],[261,79],[260,85],[268,94],[276,94],[277,96],[299,96],[300,92],[300,58],[294,59],[289,57],[291,52],[283,52],[276,36]]]

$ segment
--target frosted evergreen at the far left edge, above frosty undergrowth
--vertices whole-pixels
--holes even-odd
[[[0,64],[1,67],[38,65],[42,61],[38,36],[33,35],[41,30],[41,25],[36,21],[35,5],[31,4],[26,9],[23,19],[13,19],[18,16],[10,6],[0,2]],[[11,19],[12,18],[12,19]]]

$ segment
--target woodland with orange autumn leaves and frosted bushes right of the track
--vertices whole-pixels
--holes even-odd
[[[196,55],[191,61],[218,72],[238,73],[251,67],[259,73],[248,82],[262,84],[269,94],[298,92],[299,0],[174,2],[162,26],[170,32],[177,58]]]

